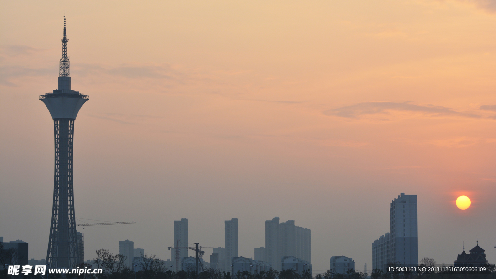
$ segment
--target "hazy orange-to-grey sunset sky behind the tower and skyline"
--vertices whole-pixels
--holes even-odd
[[[372,269],[389,204],[418,195],[418,256],[496,263],[496,0],[0,1],[0,236],[46,258],[53,120],[67,17],[85,258],[118,241],[170,259],[189,241],[239,254],[265,220],[311,229]],[[455,200],[472,200],[467,210]],[[205,257],[208,261],[207,251]]]

